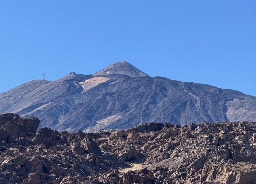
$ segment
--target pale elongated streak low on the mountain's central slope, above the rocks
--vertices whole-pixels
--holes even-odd
[[[84,131],[85,132],[95,132],[95,131],[98,131],[100,129],[104,129],[110,123],[115,122],[115,121],[121,119],[122,117],[123,116],[120,113],[112,115],[112,116],[108,116],[107,118],[96,121],[97,124],[95,126],[86,128]]]

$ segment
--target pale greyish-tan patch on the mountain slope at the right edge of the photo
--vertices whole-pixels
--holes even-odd
[[[229,121],[255,121],[256,110],[249,110],[247,108],[247,100],[234,99],[226,103],[227,118]]]

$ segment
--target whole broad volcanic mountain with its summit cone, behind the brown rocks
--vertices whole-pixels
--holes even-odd
[[[256,121],[256,97],[132,73],[140,72],[118,62],[94,75],[30,81],[0,94],[0,113],[38,117],[39,128],[69,132],[127,129],[149,122]]]

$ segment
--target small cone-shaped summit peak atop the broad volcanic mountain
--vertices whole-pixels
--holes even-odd
[[[110,75],[110,74],[122,74],[130,77],[145,77],[146,73],[140,71],[128,62],[117,62],[109,65],[107,68],[95,73],[94,75]]]

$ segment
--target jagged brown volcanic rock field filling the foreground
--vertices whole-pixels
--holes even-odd
[[[1,184],[256,184],[256,123],[149,123],[98,133],[37,131],[0,116]]]

